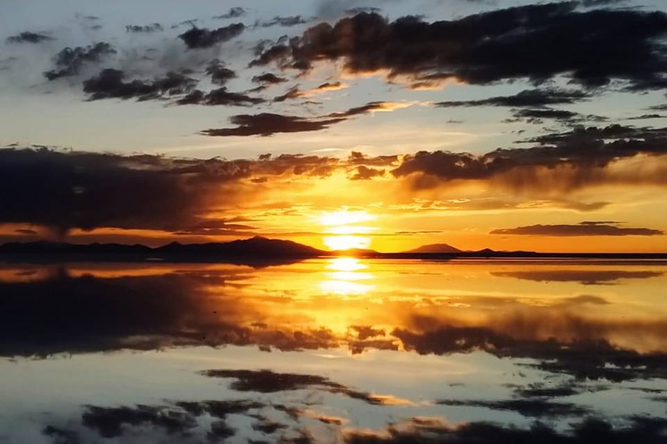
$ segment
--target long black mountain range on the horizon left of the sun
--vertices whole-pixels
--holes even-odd
[[[179,244],[172,242],[158,248],[144,245],[125,244],[67,244],[64,242],[10,242],[0,245],[0,254],[22,255],[131,255],[135,257],[159,258],[163,256],[179,257],[255,257],[258,259],[306,258],[327,255],[318,250],[293,241],[253,237],[231,242],[212,242],[209,244]]]

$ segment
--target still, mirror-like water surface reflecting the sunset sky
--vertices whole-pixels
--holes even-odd
[[[664,443],[667,264],[0,264],[0,442]]]

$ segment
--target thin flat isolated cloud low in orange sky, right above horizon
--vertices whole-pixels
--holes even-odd
[[[659,236],[661,230],[650,228],[625,228],[604,223],[582,222],[577,225],[528,225],[518,228],[501,228],[491,234],[527,234],[529,236]]]

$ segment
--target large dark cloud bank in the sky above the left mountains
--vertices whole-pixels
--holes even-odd
[[[242,198],[233,192],[241,180],[319,176],[335,166],[336,160],[327,157],[298,155],[226,161],[7,148],[0,150],[0,223],[35,223],[61,232],[196,229],[215,222],[203,216],[216,205]],[[217,222],[206,227],[225,228]]]

